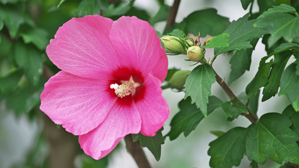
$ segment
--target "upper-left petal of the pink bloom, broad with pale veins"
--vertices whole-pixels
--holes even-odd
[[[60,69],[83,78],[101,78],[111,72],[119,56],[109,39],[113,20],[102,16],[73,18],[50,40],[46,52]]]

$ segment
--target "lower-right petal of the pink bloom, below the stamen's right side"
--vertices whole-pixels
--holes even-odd
[[[146,136],[155,136],[156,132],[169,118],[170,109],[167,101],[162,96],[160,79],[149,74],[144,85],[144,97],[134,97],[136,107],[141,115],[140,132]]]

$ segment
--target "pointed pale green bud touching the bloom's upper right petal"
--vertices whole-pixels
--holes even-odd
[[[165,46],[166,50],[170,53],[186,53],[185,47],[181,44],[181,41],[179,38],[174,36],[164,36],[160,38],[163,45]]]

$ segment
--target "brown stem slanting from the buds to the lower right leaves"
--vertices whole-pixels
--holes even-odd
[[[215,72],[215,70],[213,69],[215,75],[216,75],[216,81],[217,83],[222,87],[222,89],[225,91],[225,93],[228,95],[228,97],[230,99],[233,99],[235,97],[237,97],[232,91],[231,89],[228,87],[228,85],[225,83],[225,81],[223,81],[220,76]],[[242,103],[242,101],[240,101],[239,98],[237,98],[237,102],[239,103]],[[246,114],[244,112],[242,112],[242,115],[244,115],[246,118],[248,118],[248,120],[251,122],[251,123],[255,123],[257,122],[258,118],[257,116],[255,116],[251,110],[248,109],[248,107],[246,106],[246,104],[243,104],[243,106],[246,107],[247,111],[249,112],[249,114]]]

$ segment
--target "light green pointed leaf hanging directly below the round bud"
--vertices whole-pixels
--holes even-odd
[[[185,99],[190,96],[203,115],[207,117],[208,97],[212,96],[211,87],[216,82],[215,73],[209,64],[201,64],[188,75],[184,85]]]

